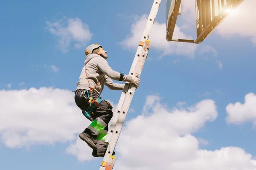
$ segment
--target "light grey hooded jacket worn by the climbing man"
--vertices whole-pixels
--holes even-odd
[[[85,69],[87,77],[90,82],[90,86],[85,74]],[[79,82],[77,82],[76,89],[93,89],[99,96],[103,91],[104,85],[106,85],[111,90],[123,90],[125,84],[114,83],[112,79],[119,80],[120,73],[113,71],[113,69],[108,65],[108,62],[105,58],[101,57],[98,54],[88,54],[85,61],[84,67],[81,71]],[[123,77],[124,82],[131,82],[132,77],[125,75]]]

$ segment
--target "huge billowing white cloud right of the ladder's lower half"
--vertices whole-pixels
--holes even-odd
[[[256,160],[241,148],[202,150],[199,144],[208,142],[192,136],[206,122],[216,119],[214,101],[207,99],[188,108],[169,109],[160,100],[159,96],[149,96],[143,109],[147,114],[131,119],[123,127],[116,146],[116,169],[255,170]]]

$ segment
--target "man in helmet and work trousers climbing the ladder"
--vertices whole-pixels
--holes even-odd
[[[113,71],[106,61],[107,51],[104,51],[101,45],[89,45],[85,49],[85,55],[84,67],[74,91],[75,102],[92,123],[79,137],[93,149],[93,156],[99,157],[105,155],[105,137],[108,133],[108,123],[113,116],[112,105],[100,97],[104,85],[111,90],[123,90],[125,84],[114,83],[112,79],[131,82],[136,87],[139,86],[140,79],[137,74],[130,76]]]

